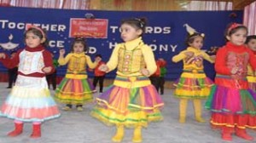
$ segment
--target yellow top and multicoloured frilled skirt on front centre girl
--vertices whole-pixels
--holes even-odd
[[[117,68],[113,85],[96,98],[91,115],[107,125],[147,127],[149,122],[163,119],[164,106],[148,77],[140,72],[147,67],[148,76],[156,70],[152,49],[141,37],[118,44],[107,63],[109,71]]]

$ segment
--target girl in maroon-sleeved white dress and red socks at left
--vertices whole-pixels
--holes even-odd
[[[46,74],[55,71],[51,54],[45,49],[46,35],[37,26],[30,26],[25,32],[26,48],[9,59],[0,54],[1,62],[9,68],[18,65],[18,77],[14,88],[1,107],[0,116],[15,120],[15,130],[9,136],[17,136],[23,131],[23,122],[32,122],[32,138],[41,136],[41,123],[55,117],[60,112],[49,93]]]

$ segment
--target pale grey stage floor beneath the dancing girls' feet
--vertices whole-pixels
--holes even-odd
[[[0,83],[0,104],[2,105],[11,89],[6,89],[7,83]],[[172,89],[166,89],[162,95],[165,107],[162,111],[164,120],[160,123],[149,123],[148,129],[143,129],[144,143],[221,143],[220,132],[210,129],[209,123],[197,123],[191,101],[187,110],[187,122],[178,123],[178,100],[173,98]],[[55,93],[51,90],[52,95]],[[95,97],[98,94],[95,94]],[[204,105],[204,103],[202,103]],[[61,109],[63,105],[59,104]],[[105,126],[93,117],[90,111],[94,105],[84,106],[83,112],[75,109],[71,112],[61,111],[61,117],[47,121],[42,125],[42,137],[31,139],[32,123],[26,123],[23,133],[17,137],[6,134],[14,128],[13,120],[0,117],[0,143],[110,143],[115,132],[114,127]],[[210,113],[202,109],[202,117],[209,120]],[[132,129],[125,130],[124,143],[131,143]],[[247,133],[256,138],[256,131],[247,129]],[[254,140],[256,141],[256,139]],[[232,143],[246,143],[233,135]],[[253,141],[251,141],[253,142]]]

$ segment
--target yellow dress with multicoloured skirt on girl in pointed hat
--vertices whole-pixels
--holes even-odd
[[[191,52],[191,57],[186,56]],[[173,56],[172,61],[183,60],[183,73],[174,83],[176,87],[174,96],[180,99],[201,100],[207,99],[213,85],[212,80],[204,72],[203,60],[213,63],[211,57],[201,49],[188,47],[179,54]]]

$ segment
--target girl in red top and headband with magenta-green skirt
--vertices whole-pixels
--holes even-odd
[[[232,140],[235,131],[238,137],[253,140],[247,128],[256,128],[256,94],[248,89],[247,64],[255,71],[256,59],[245,47],[247,27],[231,24],[225,31],[228,40],[216,55],[216,86],[212,88],[206,107],[211,110],[212,128],[222,129],[222,139]]]

